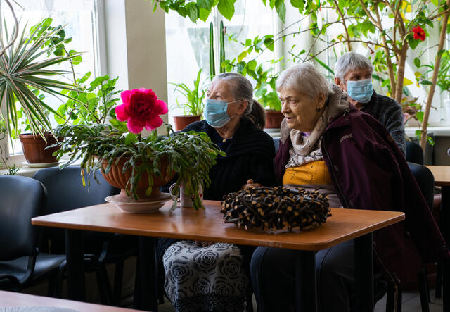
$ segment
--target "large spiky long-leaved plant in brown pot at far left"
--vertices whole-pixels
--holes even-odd
[[[61,90],[74,91],[76,86],[61,81],[64,70],[50,69],[65,61],[71,61],[78,54],[66,56],[50,56],[58,49],[58,44],[49,45],[53,37],[63,32],[62,27],[51,27],[51,19],[31,28],[26,35],[23,30],[18,36],[18,22],[9,38],[10,43],[4,44],[0,38],[0,108],[6,106],[6,125],[10,138],[20,137],[23,142],[25,158],[29,163],[52,163],[56,158],[53,151],[44,150],[46,146],[54,144],[56,138],[52,134],[49,114],[58,113],[47,105],[41,92],[56,96],[66,96]],[[49,57],[44,58],[45,54]],[[23,115],[29,134],[21,133],[18,120]],[[37,151],[30,151],[28,147],[37,147]],[[43,156],[44,158],[37,158]]]

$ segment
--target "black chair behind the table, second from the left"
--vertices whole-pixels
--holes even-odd
[[[82,169],[79,166],[59,168],[44,168],[34,173],[33,178],[41,181],[49,194],[49,200],[44,208],[44,214],[58,213],[82,208],[95,204],[103,204],[105,197],[119,194],[120,189],[105,181],[101,173],[96,173],[96,180],[91,177],[91,185],[83,187]],[[84,172],[87,179],[87,174]],[[87,183],[87,181],[86,181]],[[65,253],[64,232],[60,229],[45,228],[40,246],[52,254]],[[84,251],[94,254],[103,268],[98,271],[97,281],[101,290],[102,303],[120,305],[122,297],[122,277],[124,259],[134,256],[137,250],[136,237],[116,235],[103,232],[84,232]],[[86,258],[96,263],[93,258]],[[114,294],[110,290],[108,277],[104,265],[115,263]]]

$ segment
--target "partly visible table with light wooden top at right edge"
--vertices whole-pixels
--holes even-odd
[[[450,246],[450,166],[426,166],[435,176],[435,185],[441,187],[441,211],[439,227],[444,236],[447,247]],[[450,283],[450,259],[444,259],[443,282],[442,282],[442,307],[444,312],[450,312],[450,287],[446,287],[446,282]],[[448,285],[448,284],[447,284]],[[439,287],[439,286],[438,286]],[[440,289],[439,289],[440,290]]]

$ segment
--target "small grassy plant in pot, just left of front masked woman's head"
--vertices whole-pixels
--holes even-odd
[[[174,116],[175,130],[184,129],[187,125],[201,119],[203,114],[203,99],[205,98],[205,89],[200,86],[200,75],[202,70],[198,70],[197,79],[194,80],[194,87],[190,89],[184,83],[172,83],[175,85],[174,92],[181,94],[184,99],[180,102],[176,99],[176,104],[183,109],[184,115]]]

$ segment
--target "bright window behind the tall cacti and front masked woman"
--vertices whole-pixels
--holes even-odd
[[[225,57],[237,58],[244,50],[243,42],[253,39],[257,35],[274,33],[274,12],[261,1],[238,0],[235,4],[235,13],[231,20],[221,17],[217,8],[214,8],[208,20],[204,23],[198,20],[192,23],[175,11],[166,14],[166,54],[167,54],[167,82],[169,100],[169,122],[172,116],[184,112],[177,108],[176,100],[183,99],[174,93],[172,83],[185,83],[193,87],[193,80],[198,70],[202,68],[201,83],[207,87],[210,80],[210,23],[214,25],[214,54],[216,74],[219,73],[219,25],[223,20],[225,28]],[[255,57],[257,54],[252,54]],[[271,61],[274,53],[265,51],[258,56],[258,63]],[[270,67],[268,65],[267,67]],[[255,86],[255,84],[254,84]]]

